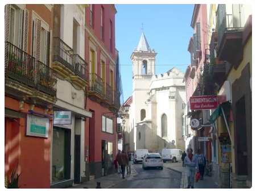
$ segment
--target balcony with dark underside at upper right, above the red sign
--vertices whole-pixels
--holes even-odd
[[[232,7],[233,14],[226,14],[226,5],[223,4],[218,5],[217,10],[218,59],[230,62],[230,64],[234,65],[235,68],[240,64],[243,55],[243,27],[241,23],[242,12],[236,10]]]

